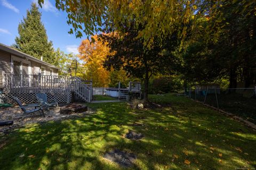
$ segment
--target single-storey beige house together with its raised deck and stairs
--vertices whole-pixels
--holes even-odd
[[[58,75],[58,71],[54,65],[0,43],[0,102],[2,97],[2,101],[15,103],[16,96],[23,103],[35,103],[38,92],[59,103],[70,103],[73,96],[91,101],[91,81],[85,84],[76,77]]]

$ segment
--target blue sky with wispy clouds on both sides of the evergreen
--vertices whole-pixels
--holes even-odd
[[[0,43],[12,45],[18,36],[18,24],[26,16],[26,11],[35,0],[0,0]],[[53,42],[54,49],[60,48],[65,53],[77,53],[82,39],[69,35],[71,28],[67,24],[67,13],[58,11],[54,0],[44,0],[42,22],[46,28],[48,40]]]

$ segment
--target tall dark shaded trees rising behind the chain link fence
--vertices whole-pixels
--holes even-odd
[[[193,25],[197,32],[191,32],[181,60],[187,81],[228,79],[229,88],[236,88],[238,81],[244,87],[255,84],[255,5],[254,1],[202,1],[199,11],[205,16]]]

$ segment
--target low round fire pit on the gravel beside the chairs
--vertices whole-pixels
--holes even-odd
[[[66,106],[62,106],[60,108],[60,114],[70,115],[73,113],[82,113],[87,111],[87,106],[79,105],[79,104],[70,104]]]

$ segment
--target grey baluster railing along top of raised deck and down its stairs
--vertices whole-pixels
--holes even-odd
[[[6,92],[37,92],[70,90],[87,102],[92,97],[91,81],[63,75],[2,74],[2,83]]]

